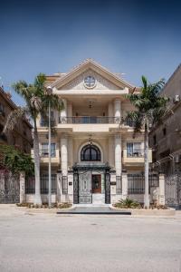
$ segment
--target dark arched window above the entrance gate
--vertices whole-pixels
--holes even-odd
[[[95,146],[88,144],[84,146],[81,150],[81,160],[89,161],[89,160],[100,160],[100,149]]]

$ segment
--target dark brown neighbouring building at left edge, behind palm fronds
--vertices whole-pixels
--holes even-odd
[[[17,109],[17,106],[11,100],[11,95],[0,87],[0,143],[14,145],[25,153],[31,153],[33,144],[32,125],[26,119],[19,120],[13,131],[2,134],[5,127],[7,116],[10,112]]]

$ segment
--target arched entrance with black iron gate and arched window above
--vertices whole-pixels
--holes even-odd
[[[110,203],[110,167],[101,159],[97,145],[81,148],[80,163],[73,167],[73,203]]]

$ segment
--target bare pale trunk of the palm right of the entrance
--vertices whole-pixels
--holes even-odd
[[[145,139],[144,139],[144,159],[145,159],[145,195],[144,207],[149,209],[149,162],[148,162],[148,121],[145,123]]]

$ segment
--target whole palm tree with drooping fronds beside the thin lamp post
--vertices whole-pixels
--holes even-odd
[[[19,81],[13,84],[14,91],[20,94],[26,103],[24,107],[19,107],[8,115],[5,131],[13,130],[16,121],[19,118],[29,116],[33,120],[33,154],[34,154],[34,178],[35,178],[35,195],[34,204],[42,204],[40,192],[40,152],[39,138],[37,131],[37,117],[39,114],[47,116],[50,102],[51,109],[61,111],[63,107],[62,99],[56,94],[47,95],[44,86],[46,77],[39,73],[33,84]]]

